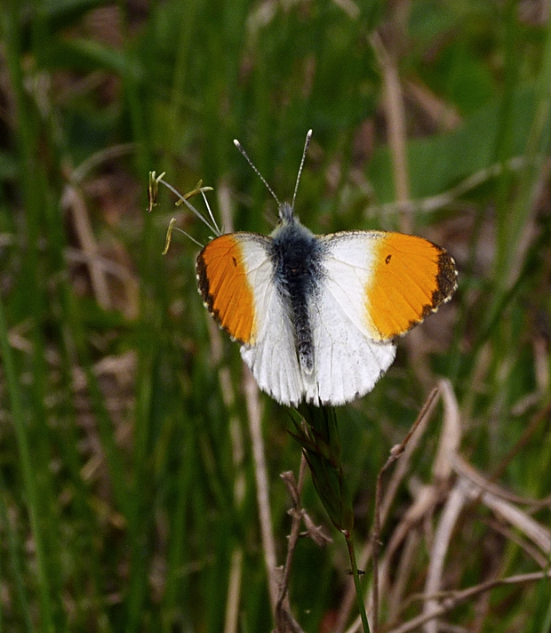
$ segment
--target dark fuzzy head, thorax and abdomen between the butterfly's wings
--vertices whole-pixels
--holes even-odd
[[[274,282],[291,317],[299,364],[309,374],[314,369],[309,305],[323,276],[323,246],[294,217],[291,205],[282,204],[280,218],[270,245]]]

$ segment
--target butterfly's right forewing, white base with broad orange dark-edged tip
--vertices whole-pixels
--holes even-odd
[[[354,231],[323,236],[329,290],[373,341],[391,341],[450,299],[457,285],[451,256],[417,236]]]

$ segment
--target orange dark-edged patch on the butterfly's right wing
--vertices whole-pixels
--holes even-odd
[[[373,270],[367,284],[368,323],[380,341],[411,330],[457,287],[451,256],[422,237],[387,233],[373,244]]]

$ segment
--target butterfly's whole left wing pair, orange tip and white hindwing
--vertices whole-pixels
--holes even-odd
[[[305,391],[288,308],[274,283],[270,238],[231,233],[213,239],[197,257],[206,307],[229,335],[260,389],[285,405]]]

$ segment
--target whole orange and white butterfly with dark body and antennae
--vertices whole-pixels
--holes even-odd
[[[292,204],[274,196],[275,230],[212,239],[196,261],[212,317],[235,341],[260,389],[282,405],[344,405],[373,389],[407,333],[457,288],[440,246],[385,231],[316,236],[294,214],[312,131]]]

